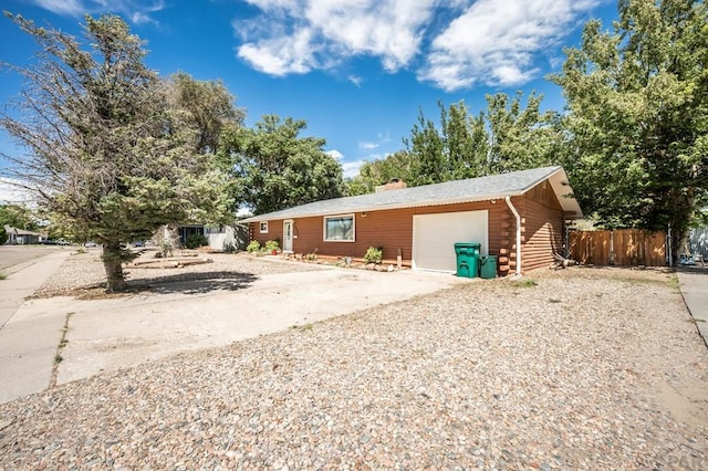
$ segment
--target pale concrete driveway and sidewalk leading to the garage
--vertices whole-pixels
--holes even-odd
[[[50,255],[13,272],[0,281],[0,294],[12,296],[13,286],[46,279],[59,262],[58,255]],[[170,290],[93,301],[15,300],[17,308],[6,310],[0,328],[0,402],[179,352],[306,328],[470,282],[439,273],[329,269],[260,275],[242,290],[205,294]],[[19,293],[31,294],[27,286]]]

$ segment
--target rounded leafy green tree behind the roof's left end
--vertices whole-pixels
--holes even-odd
[[[266,115],[253,128],[225,130],[219,157],[232,171],[235,199],[256,214],[342,196],[342,166],[301,137],[304,121]]]

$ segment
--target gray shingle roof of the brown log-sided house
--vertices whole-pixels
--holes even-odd
[[[572,193],[572,189],[568,184],[565,171],[562,167],[556,166],[470,178],[466,180],[446,181],[442,184],[425,185],[421,187],[412,187],[399,190],[381,191],[372,195],[315,201],[283,209],[281,211],[253,216],[242,220],[241,222],[450,205],[455,202],[470,202],[485,199],[503,198],[506,196],[519,196],[551,177],[553,177],[553,180],[556,180],[555,184],[552,181],[552,186],[559,196],[561,205],[564,207],[563,210],[575,212],[577,217],[582,217],[580,207],[574,198],[562,198],[565,195]]]

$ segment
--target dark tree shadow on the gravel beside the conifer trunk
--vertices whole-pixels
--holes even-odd
[[[253,273],[202,272],[180,273],[128,281],[131,287],[150,293],[204,294],[212,291],[238,291],[258,280]]]

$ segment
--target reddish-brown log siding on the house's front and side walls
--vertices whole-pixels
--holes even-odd
[[[540,184],[522,197],[511,199],[522,218],[522,271],[550,264],[553,252],[562,253],[563,213],[550,185]],[[324,241],[324,217],[293,219],[293,252],[324,257],[361,259],[369,247],[382,247],[384,259],[395,261],[398,250],[404,264],[410,265],[413,253],[413,217],[459,211],[489,211],[489,248],[487,253],[499,257],[498,274],[516,271],[516,220],[503,199],[392,209],[354,213],[355,241]],[[332,214],[336,216],[336,214]],[[268,233],[260,233],[259,223],[250,224],[252,240],[263,244],[283,238],[283,221],[271,220]],[[282,247],[282,243],[281,243]],[[450,250],[454,250],[450,248]]]

